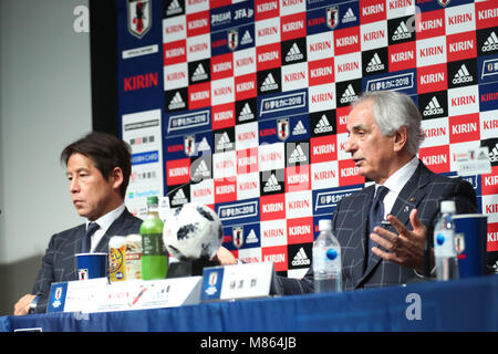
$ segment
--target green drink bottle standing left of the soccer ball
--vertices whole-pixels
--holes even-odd
[[[147,217],[142,222],[142,279],[165,279],[168,256],[163,242],[163,220],[158,214],[158,198],[147,197]]]

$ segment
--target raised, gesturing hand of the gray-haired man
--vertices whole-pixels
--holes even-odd
[[[413,231],[408,230],[396,217],[387,216],[387,221],[396,229],[398,235],[381,227],[375,227],[370,238],[385,248],[387,252],[377,247],[372,248],[372,252],[401,266],[412,268],[418,273],[423,273],[424,264],[424,243],[427,236],[427,228],[417,217],[417,210],[413,209],[409,214],[409,222]]]

